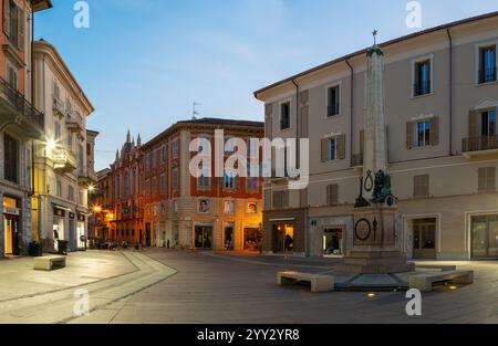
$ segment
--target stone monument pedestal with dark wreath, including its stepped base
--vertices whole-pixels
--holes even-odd
[[[375,206],[354,210],[353,251],[338,268],[357,274],[394,274],[412,272],[415,264],[396,247],[397,208]]]

